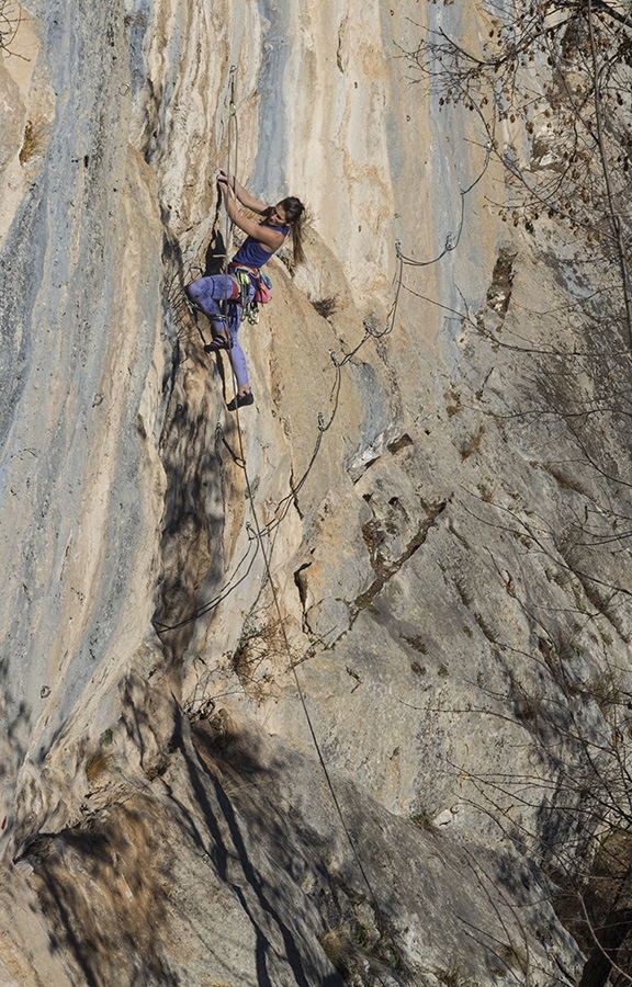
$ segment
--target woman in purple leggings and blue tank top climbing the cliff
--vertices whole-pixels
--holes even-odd
[[[219,172],[217,182],[224,194],[228,216],[239,229],[244,230],[246,240],[230,261],[227,274],[199,277],[188,286],[187,293],[211,321],[213,340],[204,347],[206,352],[216,350],[228,350],[229,352],[237,379],[237,395],[228,404],[228,410],[235,411],[245,405],[251,405],[255,400],[248,382],[246,358],[237,340],[240,322],[238,305],[240,286],[235,271],[241,268],[250,275],[249,300],[251,302],[255,297],[259,269],[279,250],[289,232],[292,236],[294,263],[303,263],[305,257],[302,234],[305,207],[294,196],[282,198],[275,206],[267,206],[250,195],[233,175],[224,170]],[[263,218],[257,223],[242,216],[235,197],[247,209],[259,213]],[[219,302],[226,303],[226,314],[223,314]]]

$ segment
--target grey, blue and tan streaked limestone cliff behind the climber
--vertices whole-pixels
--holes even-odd
[[[632,504],[567,231],[498,217],[414,0],[9,5],[0,983],[569,983]],[[219,168],[311,215],[239,415],[183,293]]]

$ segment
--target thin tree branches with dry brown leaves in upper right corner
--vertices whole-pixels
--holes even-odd
[[[516,0],[507,15],[490,3],[477,50],[439,23],[406,54],[441,107],[461,103],[478,115],[507,170],[504,218],[530,231],[542,216],[558,218],[599,245],[618,271],[616,318],[632,345],[629,7]]]

